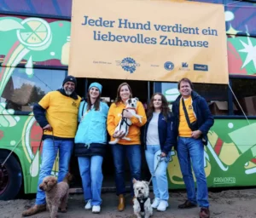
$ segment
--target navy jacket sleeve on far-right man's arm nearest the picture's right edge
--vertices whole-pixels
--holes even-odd
[[[203,123],[201,124],[201,127],[199,130],[201,130],[201,133],[203,135],[207,135],[209,129],[212,127],[214,123],[214,119],[212,117],[212,113],[210,112],[209,106],[207,105],[207,100],[204,98],[201,98],[201,115],[203,117]]]

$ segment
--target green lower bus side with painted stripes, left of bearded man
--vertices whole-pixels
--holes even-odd
[[[38,175],[41,163],[41,152],[43,148],[39,146],[43,134],[35,118],[30,114],[29,116],[15,116],[8,114],[0,115],[5,119],[7,125],[2,126],[0,130],[0,150],[6,149],[10,152],[14,149],[17,156],[23,175],[24,192],[35,193],[38,188]],[[18,144],[18,145],[17,145]],[[58,160],[58,158],[56,159]],[[58,174],[58,163],[54,164],[52,174]]]

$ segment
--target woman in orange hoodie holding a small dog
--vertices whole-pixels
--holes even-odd
[[[131,98],[131,87],[128,83],[121,83],[117,90],[117,98],[110,106],[108,112],[108,134],[111,136],[111,141],[119,138],[118,144],[111,145],[115,168],[116,193],[119,196],[119,211],[125,209],[125,156],[130,164],[131,195],[134,196],[132,179],[140,180],[142,165],[140,128],[147,122],[143,104],[140,101],[137,101],[137,107],[131,108],[131,110],[135,110],[135,113],[140,116],[141,120],[134,116],[135,113],[129,112],[130,107],[126,104],[128,104],[128,100]],[[124,131],[115,130],[122,118],[131,120],[128,134]],[[122,139],[124,136],[129,138],[130,141]]]

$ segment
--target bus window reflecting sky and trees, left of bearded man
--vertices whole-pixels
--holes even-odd
[[[11,71],[10,67],[0,67],[1,71]],[[15,112],[32,112],[32,106],[49,91],[61,88],[66,71],[31,69],[27,75],[26,68],[15,68],[11,77],[3,78],[0,103],[5,109]],[[5,81],[4,81],[5,79]],[[1,110],[4,112],[3,110]],[[0,113],[2,113],[0,112]]]

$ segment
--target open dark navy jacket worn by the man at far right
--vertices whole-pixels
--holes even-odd
[[[195,91],[191,93],[192,106],[196,116],[196,122],[198,129],[201,130],[202,137],[205,140],[205,145],[207,145],[207,133],[214,123],[212,113],[210,112],[209,106],[207,105],[207,100],[205,100],[201,95],[198,95]],[[172,112],[179,119],[179,103],[181,95],[177,97],[172,105]],[[177,125],[178,130],[178,125]]]

